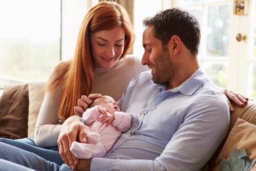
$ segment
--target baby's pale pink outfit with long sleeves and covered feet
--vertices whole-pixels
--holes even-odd
[[[116,140],[131,127],[131,115],[124,112],[115,112],[115,120],[106,126],[100,119],[103,117],[98,112],[100,106],[87,109],[82,114],[84,123],[88,126],[87,143],[74,141],[70,151],[79,159],[90,159],[92,157],[103,157],[111,149]],[[111,115],[108,113],[108,115]]]

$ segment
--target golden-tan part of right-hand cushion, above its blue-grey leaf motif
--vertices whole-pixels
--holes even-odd
[[[234,147],[237,147],[239,151],[244,148],[251,161],[256,158],[255,130],[256,125],[238,118],[216,160],[217,165],[214,170],[220,170],[221,158],[229,160]],[[256,165],[254,168],[256,168]]]

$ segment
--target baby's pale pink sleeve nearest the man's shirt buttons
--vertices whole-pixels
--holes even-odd
[[[115,120],[112,122],[113,126],[116,126],[117,130],[125,132],[131,127],[132,117],[129,113],[115,112]]]

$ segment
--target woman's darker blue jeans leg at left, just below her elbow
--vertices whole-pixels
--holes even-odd
[[[40,156],[51,162],[57,163],[58,165],[61,165],[64,163],[59,155],[58,146],[40,148],[36,146],[33,138],[23,138],[23,139],[17,139],[17,140],[0,138],[0,142],[24,149],[25,151],[28,151],[28,152],[32,152],[37,156]],[[3,152],[1,151],[1,153]]]

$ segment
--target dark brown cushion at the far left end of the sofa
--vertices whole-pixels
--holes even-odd
[[[5,86],[0,98],[0,137],[28,136],[28,84]]]

